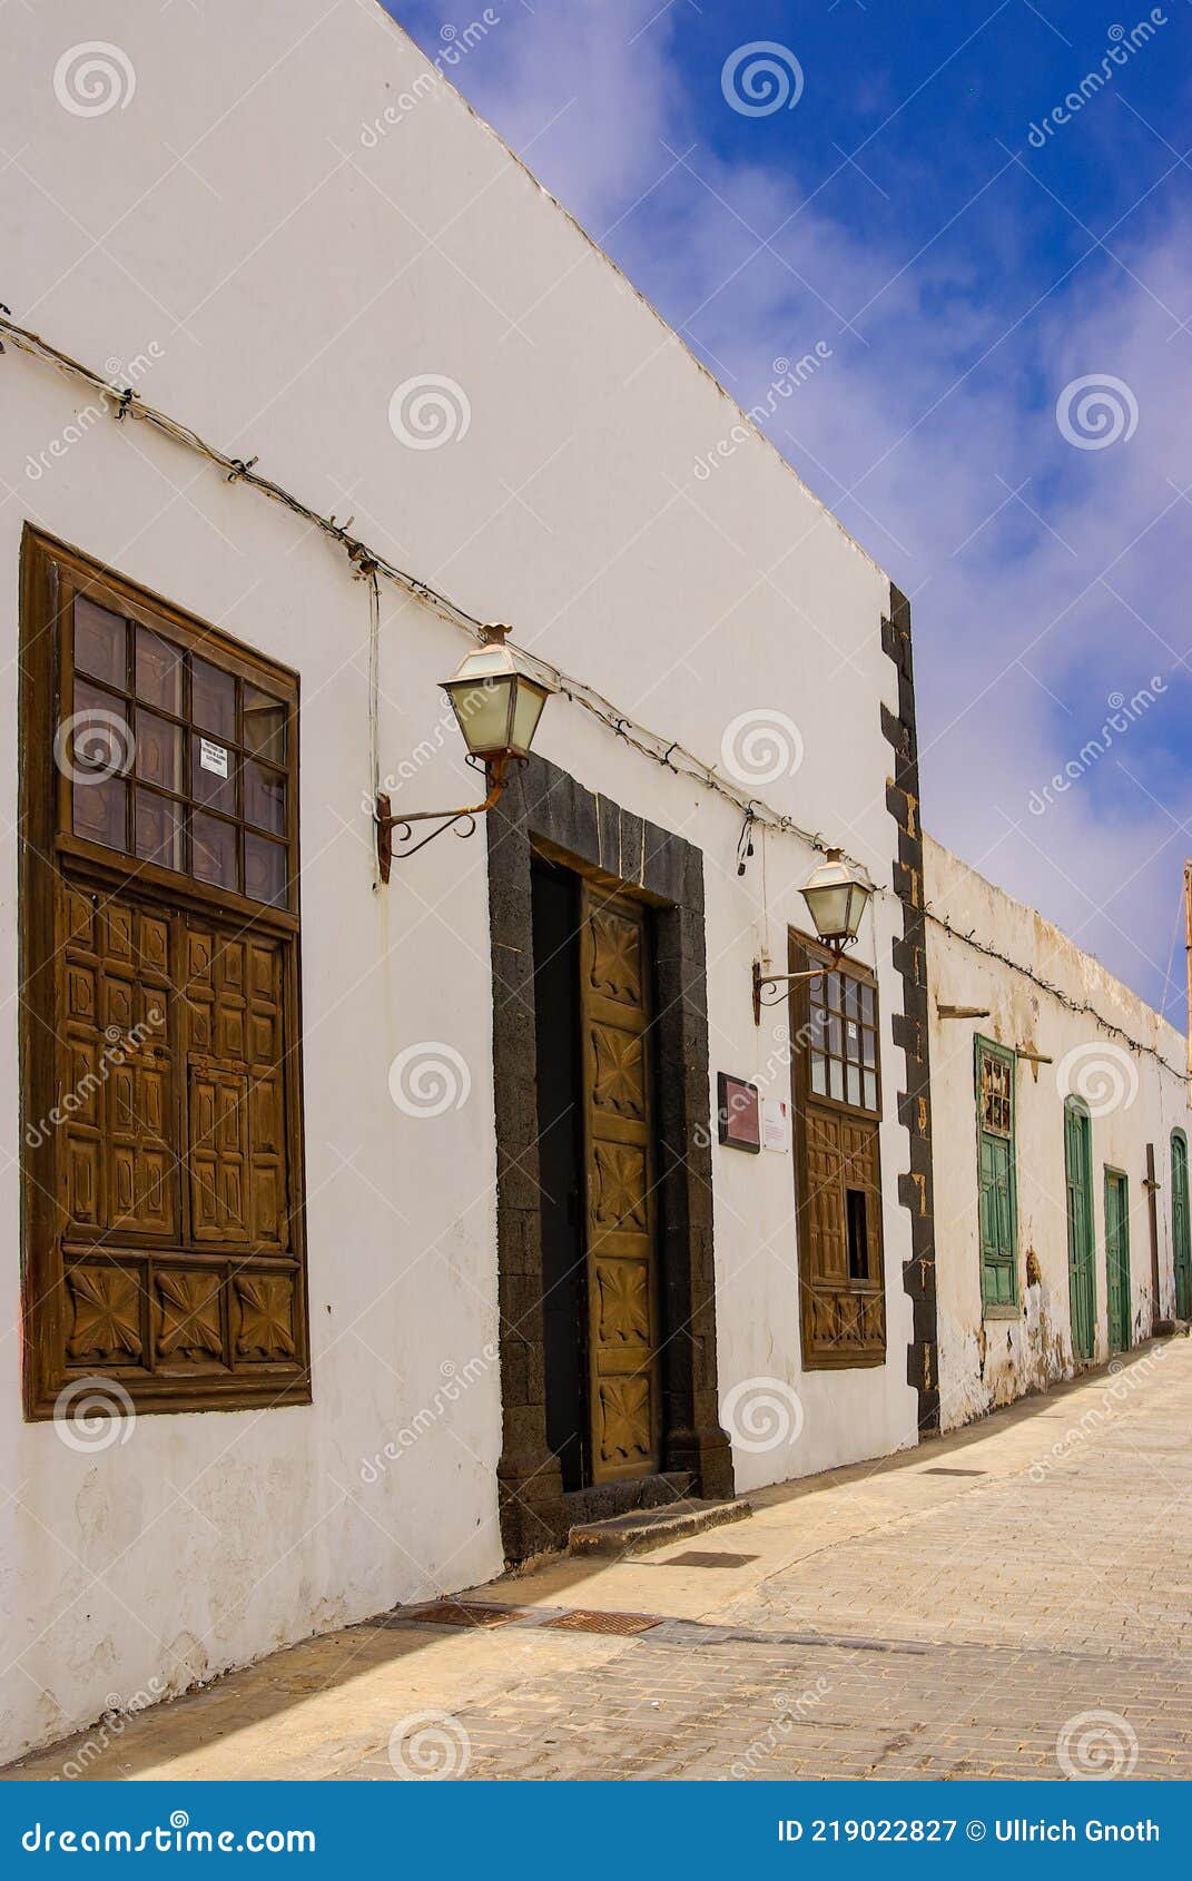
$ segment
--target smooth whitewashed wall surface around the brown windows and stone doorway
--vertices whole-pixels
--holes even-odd
[[[111,109],[83,115],[70,55],[100,30],[128,70]],[[760,792],[889,884],[886,577],[760,438],[696,474],[737,423],[731,403],[455,94],[414,98],[429,68],[380,9],[126,0],[100,24],[85,0],[53,0],[9,8],[4,32],[4,141],[19,160],[0,175],[2,292],[19,320],[117,378],[149,361],[147,401],[259,455],[323,512],[355,515],[384,553],[696,751],[714,758],[741,713],[790,717],[803,764]],[[395,389],[419,374],[451,378],[468,403],[466,429],[436,450],[402,444],[389,421]],[[0,1683],[0,1755],[15,1755],[111,1695],[180,1689],[496,1571],[500,1381],[479,1366],[440,1415],[449,1367],[496,1339],[483,837],[444,837],[372,892],[365,587],[291,515],[145,427],[88,416],[75,384],[11,350],[0,399],[0,984],[17,980],[23,525],[301,673],[314,1345],[308,1409],[145,1416],[96,1454],[21,1422],[9,991],[0,1480],[17,1501],[0,1514],[0,1636],[17,1657]],[[434,735],[436,681],[461,651],[434,613],[385,593],[382,766],[414,773],[408,807],[453,803],[468,779],[455,735]],[[541,749],[703,848],[713,1065],[767,1070],[786,1091],[773,1027],[752,1025],[761,867],[737,878],[735,813],[562,702]],[[812,860],[795,841],[769,845],[778,957]],[[904,1072],[889,893],[874,922],[863,954],[880,972],[893,1119]],[[440,1117],[389,1097],[393,1057],[419,1042],[466,1067],[466,1097]],[[797,1446],[739,1454],[743,1488],[914,1441],[895,1121],[882,1151],[889,1364],[807,1381],[792,1161],[714,1151],[722,1394],[778,1377],[807,1407]],[[417,1443],[374,1467],[419,1413]]]

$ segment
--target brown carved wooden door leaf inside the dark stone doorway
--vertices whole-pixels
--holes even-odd
[[[579,1010],[587,1170],[590,1471],[658,1469],[658,1277],[643,907],[583,884]]]

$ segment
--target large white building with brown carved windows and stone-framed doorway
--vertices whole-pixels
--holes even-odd
[[[6,53],[11,322],[117,387],[0,329],[17,1755],[575,1512],[910,1445],[936,1367],[887,577],[380,8]],[[575,679],[380,886],[378,777],[483,794],[466,617]],[[752,965],[818,957],[827,845],[878,893],[818,1029],[799,982],[792,1149]]]

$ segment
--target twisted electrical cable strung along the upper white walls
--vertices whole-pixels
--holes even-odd
[[[472,638],[479,638],[483,621],[479,621],[474,613],[468,613],[466,608],[461,608],[447,594],[442,594],[429,581],[421,581],[417,576],[408,574],[395,562],[387,561],[387,557],[376,553],[374,549],[359,542],[352,534],[352,517],[348,517],[348,523],[337,523],[335,515],[322,515],[318,510],[312,510],[310,504],[303,502],[301,497],[295,497],[282,483],[273,482],[273,478],[259,476],[259,472],[256,470],[258,465],[256,457],[248,459],[231,457],[227,451],[222,451],[214,444],[209,444],[190,425],[180,423],[179,419],[171,418],[167,412],[162,412],[152,404],[145,404],[139,393],[133,391],[130,386],[111,384],[111,380],[107,380],[102,372],[94,372],[90,367],[81,365],[79,359],[73,359],[58,346],[53,346],[49,340],[43,340],[38,333],[32,333],[28,327],[19,325],[11,318],[8,307],[4,307],[2,301],[0,301],[0,335],[8,337],[19,352],[24,352],[34,359],[43,359],[47,365],[56,367],[60,372],[83,380],[83,384],[98,391],[100,397],[111,399],[115,404],[113,418],[120,421],[126,418],[137,419],[139,423],[147,423],[154,431],[160,431],[164,436],[173,438],[175,444],[182,444],[188,450],[197,451],[201,457],[207,457],[209,463],[224,470],[229,483],[248,483],[263,497],[269,497],[273,502],[280,502],[284,508],[291,510],[312,529],[322,530],[338,547],[346,549],[348,559],[353,562],[353,574],[357,577],[367,577],[370,583],[369,747],[370,747],[372,784],[376,794],[376,790],[380,788],[378,577],[385,576],[387,581],[393,581],[397,587],[404,589],[406,594],[416,596],[419,602],[423,602],[427,608],[438,613],[440,619],[449,621],[453,626],[459,626]],[[4,350],[6,350],[4,342],[0,340],[0,354],[4,354]],[[835,846],[820,831],[803,830],[793,816],[786,816],[784,813],[773,809],[773,805],[765,803],[761,798],[746,796],[743,788],[737,788],[728,779],[720,777],[714,766],[705,764],[703,758],[696,756],[696,752],[681,745],[679,739],[666,739],[658,732],[651,732],[649,726],[639,724],[628,713],[619,711],[611,703],[611,700],[604,698],[604,694],[598,692],[594,687],[588,687],[587,681],[573,679],[570,673],[564,673],[549,660],[540,658],[530,649],[523,649],[523,653],[526,653],[526,656],[541,670],[543,677],[555,690],[558,690],[573,705],[579,705],[583,711],[598,719],[609,732],[613,732],[626,745],[632,745],[634,751],[637,751],[643,758],[651,758],[654,764],[664,766],[664,769],[673,771],[677,777],[684,777],[690,779],[692,782],[698,782],[701,788],[714,792],[716,796],[733,803],[741,811],[743,828],[741,828],[741,841],[737,845],[739,873],[745,873],[745,861],[754,850],[752,843],[754,826],[758,826],[761,831],[773,830],[780,835],[795,835],[799,837],[799,841],[807,843],[820,854],[827,854],[827,850]],[[876,888],[876,893],[887,893],[887,890]],[[936,925],[944,927],[955,940],[965,942],[978,954],[985,954],[991,959],[1002,961],[1002,965],[1013,969],[1013,972],[1023,974],[1027,980],[1032,980],[1042,991],[1049,993],[1053,999],[1059,999],[1060,1004],[1064,1004],[1068,1010],[1096,1020],[1096,1023],[1102,1025],[1107,1033],[1124,1038],[1132,1050],[1149,1053],[1166,1070],[1181,1078],[1181,1082],[1188,1082],[1186,1074],[1175,1072],[1173,1067],[1168,1063],[1168,1059],[1154,1050],[1154,1046],[1132,1038],[1130,1033],[1126,1033],[1121,1025],[1115,1025],[1113,1020],[1106,1020],[1094,1006],[1070,999],[1064,991],[1060,991],[1060,988],[1053,986],[1049,980],[1043,980],[1030,967],[1023,967],[1019,961],[1010,959],[1010,956],[1000,954],[996,948],[991,948],[981,940],[976,940],[972,933],[968,935],[961,933],[944,916],[933,914],[931,909],[925,909],[923,912],[927,920],[936,922]],[[876,909],[874,909],[874,922],[876,922]]]

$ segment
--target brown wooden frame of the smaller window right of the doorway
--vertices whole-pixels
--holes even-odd
[[[792,972],[808,972],[814,967],[823,965],[823,971],[840,972],[842,978],[852,978],[861,986],[872,989],[872,1010],[874,1010],[874,1074],[876,1074],[876,1110],[865,1104],[850,1104],[846,1099],[825,1097],[810,1089],[810,984],[807,980],[797,980],[790,989],[790,1014],[792,1014],[792,1100],[793,1100],[793,1119],[795,1119],[795,1155],[793,1155],[793,1179],[795,1179],[795,1209],[799,1221],[799,1322],[801,1322],[801,1343],[803,1343],[803,1369],[805,1371],[844,1371],[844,1369],[867,1369],[874,1366],[884,1366],[889,1356],[887,1345],[887,1326],[886,1326],[886,1209],[882,1198],[882,995],[876,974],[865,967],[861,961],[850,961],[837,957],[829,948],[822,946],[810,935],[799,929],[788,931],[788,963]],[[822,1345],[814,1336],[814,1294],[816,1277],[807,1272],[810,1262],[810,1228],[808,1211],[812,1200],[810,1183],[810,1149],[808,1149],[808,1112],[822,1112],[829,1117],[840,1119],[844,1125],[865,1127],[872,1132],[872,1179],[869,1183],[855,1183],[848,1179],[850,1164],[840,1166],[840,1185],[842,1185],[842,1209],[848,1209],[846,1191],[850,1187],[863,1187],[872,1194],[872,1213],[870,1226],[870,1273],[867,1279],[848,1279],[844,1287],[837,1292],[848,1296],[859,1311],[872,1313],[880,1320],[880,1337],[869,1341],[861,1347],[842,1347],[833,1351]],[[848,1221],[844,1215],[844,1236],[848,1234]]]

